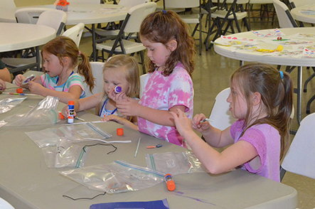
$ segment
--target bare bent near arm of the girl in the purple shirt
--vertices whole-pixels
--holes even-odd
[[[186,139],[189,146],[196,154],[201,164],[210,173],[223,173],[232,168],[245,164],[257,156],[257,150],[247,141],[237,141],[221,153],[205,143],[191,128],[191,119],[186,114],[178,111],[178,116],[171,113],[176,122],[178,132]]]

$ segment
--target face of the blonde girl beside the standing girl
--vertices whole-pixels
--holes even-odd
[[[122,87],[122,90],[127,94],[130,85],[126,79],[124,67],[108,68],[104,70],[103,78],[104,78],[104,90],[107,95],[109,94],[111,90],[114,89],[114,87],[117,87],[117,85]]]

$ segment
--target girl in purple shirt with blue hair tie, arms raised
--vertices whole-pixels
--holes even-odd
[[[289,145],[293,97],[289,74],[270,65],[250,63],[233,73],[230,89],[227,102],[238,119],[231,127],[215,129],[202,122],[204,114],[197,114],[191,122],[178,110],[178,115],[171,113],[178,132],[210,173],[240,166],[279,182],[279,161]],[[193,129],[201,132],[206,142]],[[211,146],[228,148],[218,152]]]

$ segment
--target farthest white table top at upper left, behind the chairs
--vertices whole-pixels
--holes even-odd
[[[26,7],[45,7],[54,9],[53,4],[40,6],[25,6],[14,9],[0,9],[0,22],[16,22],[14,13],[17,9]],[[121,21],[127,15],[129,8],[114,4],[70,4],[66,12],[66,25],[76,25],[78,23],[107,23]]]

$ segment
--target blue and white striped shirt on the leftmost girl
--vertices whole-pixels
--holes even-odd
[[[58,76],[50,77],[47,73],[41,75],[41,82],[43,82],[44,87],[58,92],[69,92],[70,87],[72,87],[73,85],[79,85],[82,89],[80,99],[85,97],[83,81],[78,73],[72,73],[63,85],[57,85]]]

